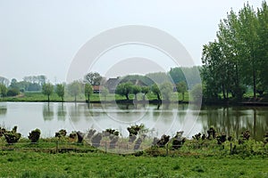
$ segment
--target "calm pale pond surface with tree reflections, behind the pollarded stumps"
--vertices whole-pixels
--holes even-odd
[[[54,136],[60,129],[87,132],[94,128],[101,132],[106,128],[128,136],[127,127],[144,124],[152,136],[174,135],[184,131],[191,138],[198,132],[206,133],[210,125],[217,131],[238,137],[249,130],[252,137],[262,140],[268,131],[267,107],[203,107],[191,105],[116,105],[87,103],[0,102],[0,125],[18,132],[24,137],[35,128],[42,137]]]

